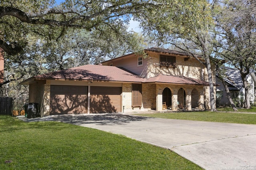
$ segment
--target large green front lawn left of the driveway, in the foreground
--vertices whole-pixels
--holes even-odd
[[[67,123],[0,116],[0,139],[1,170],[201,169],[170,150]]]

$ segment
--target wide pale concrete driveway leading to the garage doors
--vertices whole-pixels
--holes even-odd
[[[256,125],[139,117],[126,114],[53,115],[60,121],[168,148],[207,170],[256,170]]]

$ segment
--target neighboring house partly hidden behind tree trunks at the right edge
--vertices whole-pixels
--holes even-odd
[[[230,96],[232,97],[235,104],[242,104],[245,100],[245,89],[244,84],[240,75],[240,71],[236,68],[225,67],[225,74],[227,78],[224,78],[225,82],[228,85],[228,89],[230,91]],[[250,103],[254,104],[256,102],[256,72],[254,70],[250,70],[250,74],[246,76],[246,80],[248,81],[249,95],[250,95]],[[228,100],[227,93],[225,87],[220,81],[218,77],[216,77],[216,83],[220,84],[220,86],[216,87],[216,98],[217,105],[219,106],[229,106],[230,102]]]

